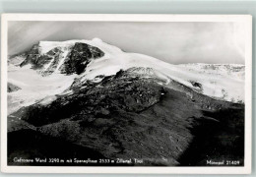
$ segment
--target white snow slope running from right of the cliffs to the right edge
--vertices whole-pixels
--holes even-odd
[[[196,82],[202,85],[200,92],[206,95],[232,102],[244,102],[243,65],[171,65],[147,55],[122,52],[99,39],[93,40],[90,44],[95,45],[107,55],[90,63],[87,71],[79,76],[84,81],[93,80],[98,75],[114,75],[120,69],[153,68],[155,76],[165,80],[165,85],[168,85],[171,79],[198,90],[191,84],[191,82]]]

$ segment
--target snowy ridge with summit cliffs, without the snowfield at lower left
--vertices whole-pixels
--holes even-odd
[[[87,46],[83,48],[83,45]],[[143,54],[125,53],[116,46],[104,43],[98,38],[61,42],[41,41],[36,46],[32,47],[20,66],[25,67],[31,64],[32,69],[35,69],[42,76],[54,73],[77,74],[78,80],[85,82],[96,79],[96,76],[110,76],[120,70],[128,70],[133,67],[152,68],[158,78],[166,80],[166,84],[168,80],[174,80],[217,99],[244,102],[242,92],[244,91],[245,71],[242,65],[171,65]],[[77,57],[72,57],[76,53],[76,48],[79,47],[82,47],[84,52],[79,51]],[[86,50],[92,50],[91,54]],[[83,55],[83,53],[89,56],[80,61],[81,56],[79,55]],[[199,90],[193,83],[200,84],[201,89]]]

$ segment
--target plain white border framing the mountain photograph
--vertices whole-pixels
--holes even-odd
[[[243,167],[45,167],[7,165],[7,32],[8,21],[87,22],[243,22],[245,46],[245,155]],[[249,174],[252,139],[252,16],[250,15],[139,15],[139,14],[3,14],[1,29],[1,171],[6,173],[140,173]]]

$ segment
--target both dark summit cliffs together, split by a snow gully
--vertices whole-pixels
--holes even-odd
[[[67,56],[63,56],[64,51],[68,50]],[[102,57],[104,53],[95,46],[87,43],[75,43],[72,47],[55,47],[45,54],[40,54],[38,44],[33,45],[28,52],[26,59],[20,64],[21,67],[32,64],[32,69],[39,70],[42,76],[52,74],[61,59],[64,58],[63,65],[59,68],[62,74],[81,74],[87,65],[96,58]],[[49,65],[45,68],[46,65]],[[43,69],[43,70],[42,70]],[[41,71],[40,71],[41,70]]]

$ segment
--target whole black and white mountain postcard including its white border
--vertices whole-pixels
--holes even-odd
[[[250,16],[10,17],[6,169],[250,168]]]

